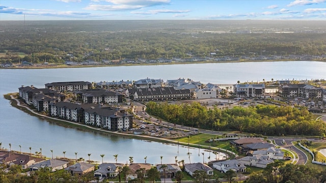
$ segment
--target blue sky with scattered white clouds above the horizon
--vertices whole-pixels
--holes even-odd
[[[326,20],[326,0],[1,0],[0,20]]]

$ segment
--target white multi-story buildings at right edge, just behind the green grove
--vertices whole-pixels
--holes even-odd
[[[309,84],[282,84],[279,92],[281,97],[287,98],[323,99],[323,89]]]

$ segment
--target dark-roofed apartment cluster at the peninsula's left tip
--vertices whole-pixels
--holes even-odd
[[[33,105],[38,111],[48,111],[49,103],[65,100],[65,95],[48,88],[21,86],[18,88],[19,98],[26,104]]]

